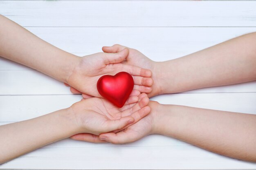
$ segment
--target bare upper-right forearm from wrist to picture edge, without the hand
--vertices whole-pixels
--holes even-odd
[[[162,93],[256,80],[256,33],[157,63]]]

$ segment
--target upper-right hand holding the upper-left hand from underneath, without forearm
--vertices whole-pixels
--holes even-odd
[[[126,49],[128,47],[126,46],[121,46],[119,44],[115,44],[113,46],[103,46],[102,47],[102,51],[105,53],[118,53],[119,51],[122,51],[124,49]],[[135,49],[129,49],[129,54],[128,57],[126,58],[126,60],[124,60],[122,62],[122,64],[125,65],[131,65],[131,66],[137,66],[140,68],[146,68],[149,69],[153,72],[152,74],[152,78],[154,80],[154,84],[153,81],[151,81],[151,79],[147,79],[147,78],[142,78],[139,79],[139,81],[141,81],[141,84],[139,85],[144,85],[144,86],[152,86],[152,91],[144,91],[144,86],[138,86],[136,85],[135,89],[139,90],[139,91],[143,91],[144,93],[148,93],[148,97],[153,97],[155,95],[159,95],[162,94],[161,93],[161,84],[160,84],[160,78],[162,76],[159,72],[160,72],[160,68],[161,66],[159,66],[159,62],[154,62],[152,60],[150,60],[148,57],[146,57],[144,54],[142,54],[141,52],[135,50]]]

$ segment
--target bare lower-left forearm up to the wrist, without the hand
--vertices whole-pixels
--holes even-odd
[[[0,126],[0,164],[75,133],[69,108]]]

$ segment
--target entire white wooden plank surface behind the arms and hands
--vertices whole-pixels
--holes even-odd
[[[255,1],[2,0],[0,14],[76,55],[96,53],[103,45],[119,43],[155,61],[171,60],[256,31]],[[0,58],[0,125],[66,108],[80,99],[61,82]],[[256,114],[256,82],[161,95],[152,100]],[[256,163],[150,135],[123,145],[64,139],[0,165],[0,169],[131,168],[256,169]]]

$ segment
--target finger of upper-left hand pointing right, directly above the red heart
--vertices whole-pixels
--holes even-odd
[[[142,76],[142,77],[151,77],[152,76],[152,71],[145,69],[145,68],[140,68],[137,66],[124,64],[122,69],[123,69],[123,71],[126,71],[127,73],[130,73],[131,75],[138,75],[138,76]]]

